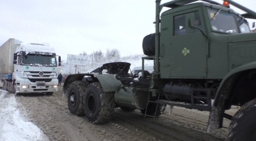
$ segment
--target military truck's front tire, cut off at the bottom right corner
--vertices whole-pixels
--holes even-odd
[[[256,99],[245,103],[232,117],[228,140],[256,140]]]

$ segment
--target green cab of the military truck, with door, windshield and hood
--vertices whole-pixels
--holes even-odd
[[[192,3],[164,11],[159,36],[161,78],[220,79],[254,61],[234,42],[253,41],[255,34],[243,38],[240,33],[250,33],[248,22],[222,5]]]

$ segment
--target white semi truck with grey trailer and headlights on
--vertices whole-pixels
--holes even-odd
[[[10,38],[0,47],[0,80],[3,89],[13,94],[58,91],[57,66],[53,47],[22,43]]]

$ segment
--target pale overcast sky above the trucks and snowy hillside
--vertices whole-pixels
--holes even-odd
[[[255,0],[234,1],[255,10]],[[0,45],[9,38],[47,42],[62,60],[113,48],[143,54],[144,36],[155,31],[155,0],[1,0],[0,10]]]

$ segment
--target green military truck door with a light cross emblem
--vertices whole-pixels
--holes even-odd
[[[200,28],[202,31],[195,27]],[[205,78],[207,40],[202,13],[193,8],[162,15],[160,38],[161,78]]]

